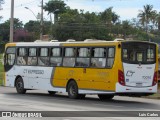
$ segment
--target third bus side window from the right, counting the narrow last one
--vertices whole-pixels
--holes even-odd
[[[76,67],[88,67],[90,62],[90,48],[78,48]]]

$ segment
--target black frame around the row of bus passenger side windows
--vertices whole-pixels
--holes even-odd
[[[91,68],[91,69],[112,69],[113,68],[113,65],[114,65],[114,62],[115,62],[115,53],[116,53],[116,46],[18,46],[16,47],[16,54],[15,54],[15,60],[17,60],[18,58],[18,50],[19,48],[26,48],[27,50],[27,59],[29,56],[29,49],[30,48],[36,48],[36,57],[37,57],[37,64],[36,65],[28,65],[28,61],[27,61],[27,64],[26,65],[19,65],[19,66],[42,66],[42,67],[66,67],[66,68]],[[48,65],[39,65],[38,64],[38,58],[39,57],[42,57],[40,56],[40,49],[41,48],[48,48],[48,56],[46,57],[49,57],[49,63]],[[62,58],[62,61],[61,61],[61,64],[60,66],[54,66],[54,65],[51,65],[51,62],[50,62],[50,59],[51,59],[51,50],[53,48],[60,48],[61,49],[61,58]],[[66,48],[74,48],[75,49],[75,56],[74,57],[65,57],[65,49]],[[79,48],[89,48],[90,49],[90,56],[89,57],[80,57],[80,58],[89,58],[89,65],[88,66],[76,66],[76,61],[77,61],[77,56],[78,56],[78,49]],[[93,48],[105,48],[105,51],[106,51],[106,57],[103,57],[106,59],[106,63],[105,63],[105,67],[92,67],[91,66],[91,59],[92,58],[101,58],[101,57],[92,57],[92,50]],[[112,67],[107,67],[107,60],[108,60],[108,51],[109,51],[109,48],[114,48],[114,61],[113,61],[113,65]],[[45,56],[44,56],[45,57]],[[56,56],[54,56],[56,58]],[[75,59],[75,64],[74,66],[64,66],[63,65],[63,61],[64,61],[64,58],[74,58]],[[17,62],[16,62],[17,63]]]

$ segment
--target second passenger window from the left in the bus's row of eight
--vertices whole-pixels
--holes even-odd
[[[37,49],[29,48],[28,65],[37,65]]]

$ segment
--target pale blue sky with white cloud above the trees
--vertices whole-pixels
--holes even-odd
[[[3,19],[0,23],[10,18],[11,0],[4,0],[1,5],[0,16]],[[49,0],[44,0],[44,4]],[[139,10],[143,10],[146,4],[153,5],[153,9],[160,12],[160,0],[64,0],[71,9],[82,9],[84,12],[103,12],[106,8],[113,7],[113,11],[120,16],[120,20],[131,20],[137,18]],[[14,18],[19,18],[25,24],[29,20],[36,20],[41,12],[41,0],[14,0]],[[29,9],[25,9],[28,7]],[[34,13],[34,14],[33,14]],[[45,20],[50,20],[47,12],[44,11]]]

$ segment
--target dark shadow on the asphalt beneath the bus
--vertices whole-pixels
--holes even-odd
[[[127,99],[122,99],[122,100],[118,100],[115,96],[115,98],[113,98],[112,100],[100,100],[98,97],[96,97],[96,95],[90,95],[90,96],[86,96],[84,99],[70,99],[68,98],[68,95],[64,95],[64,94],[55,94],[55,95],[50,95],[48,93],[26,93],[26,94],[17,94],[17,93],[4,93],[5,95],[10,95],[12,97],[23,97],[25,96],[28,97],[28,99],[30,97],[39,97],[40,99],[48,99],[48,98],[53,98],[53,99],[59,99],[59,100],[66,100],[66,101],[83,101],[83,102],[99,102],[99,103],[114,103],[114,104],[152,104],[152,103],[147,103],[145,101],[136,101],[134,100],[134,98],[132,100],[127,100]],[[126,98],[126,97],[124,97]],[[137,99],[135,97],[135,99]]]

